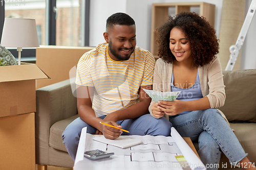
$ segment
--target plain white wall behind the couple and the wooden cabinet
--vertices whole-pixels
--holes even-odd
[[[106,19],[113,13],[124,12],[129,14],[136,23],[137,46],[150,51],[151,41],[151,11],[153,3],[177,2],[205,2],[215,4],[215,29],[217,37],[220,32],[221,11],[223,0],[93,0],[90,2],[90,46],[97,46],[104,42]],[[246,14],[251,0],[246,0]],[[240,53],[241,69],[256,68],[256,17],[253,18]]]

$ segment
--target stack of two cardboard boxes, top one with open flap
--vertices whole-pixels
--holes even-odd
[[[0,169],[35,169],[35,64],[0,66]]]

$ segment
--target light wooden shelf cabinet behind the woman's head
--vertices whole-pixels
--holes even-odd
[[[197,11],[194,11],[196,9]],[[173,12],[172,12],[173,11]],[[197,12],[204,16],[210,25],[214,27],[215,5],[197,2],[197,3],[160,3],[152,5],[152,23],[151,23],[151,53],[155,58],[157,56],[157,44],[155,29],[167,21],[168,15],[176,15],[182,11]]]

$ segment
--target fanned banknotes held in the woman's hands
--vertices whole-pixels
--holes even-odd
[[[161,92],[156,90],[143,89],[155,102],[158,101],[170,101],[173,102],[178,97],[181,91],[167,91]]]

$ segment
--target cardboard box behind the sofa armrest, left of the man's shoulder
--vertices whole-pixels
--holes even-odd
[[[36,65],[51,77],[37,80],[36,89],[69,79],[69,71],[81,56],[95,47],[40,45],[36,48]]]

